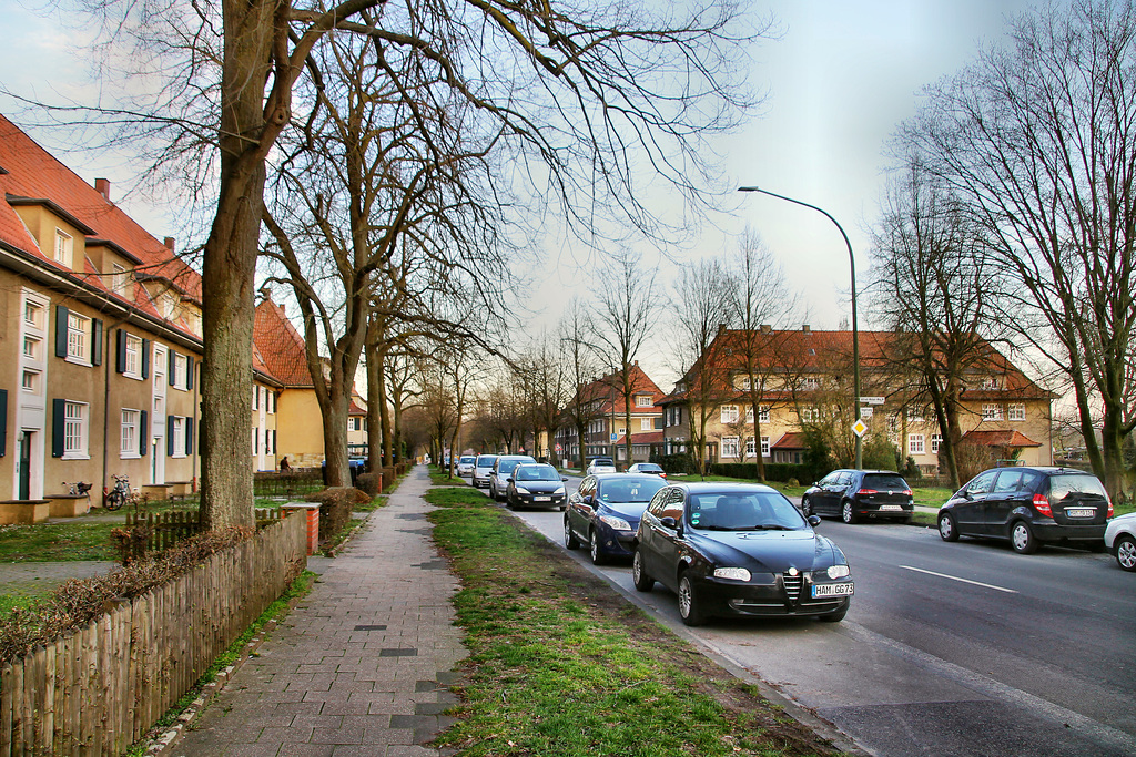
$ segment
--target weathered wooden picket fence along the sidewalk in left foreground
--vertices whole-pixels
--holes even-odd
[[[306,527],[284,518],[6,665],[0,756],[125,751],[303,570]]]

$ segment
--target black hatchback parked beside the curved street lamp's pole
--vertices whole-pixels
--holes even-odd
[[[911,487],[894,471],[833,471],[801,497],[805,515],[832,515],[845,523],[864,518],[910,523],[914,506]]]

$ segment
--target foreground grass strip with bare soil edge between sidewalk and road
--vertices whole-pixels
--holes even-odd
[[[832,755],[828,742],[710,663],[475,489],[435,488],[434,538],[462,589],[470,650],[462,755]]]

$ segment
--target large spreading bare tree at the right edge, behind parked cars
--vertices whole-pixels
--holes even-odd
[[[901,138],[984,225],[1011,301],[1037,316],[1010,325],[1067,372],[1093,470],[1120,496],[1136,427],[1136,9],[1077,0],[1011,34],[933,87]]]

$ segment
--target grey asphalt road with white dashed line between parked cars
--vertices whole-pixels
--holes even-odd
[[[562,545],[561,513],[518,516]],[[1136,754],[1136,577],[1111,557],[819,528],[855,579],[844,622],[716,621],[695,639],[877,755]],[[667,589],[636,592],[626,565],[592,570],[680,625]]]

